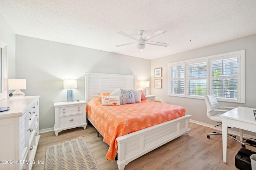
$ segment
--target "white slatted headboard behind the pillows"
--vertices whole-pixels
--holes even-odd
[[[97,97],[99,92],[112,92],[117,88],[130,90],[136,87],[136,75],[84,73],[84,76],[87,102]]]

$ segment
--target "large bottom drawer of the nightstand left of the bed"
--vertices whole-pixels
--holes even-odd
[[[59,126],[69,126],[69,125],[76,125],[79,123],[83,123],[83,114],[79,115],[71,115],[59,118]]]

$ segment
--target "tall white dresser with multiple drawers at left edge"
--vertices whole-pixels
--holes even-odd
[[[39,135],[39,97],[12,97],[0,101],[0,169],[31,170]]]

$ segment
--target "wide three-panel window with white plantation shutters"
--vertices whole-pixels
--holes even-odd
[[[168,95],[244,103],[244,50],[169,63]]]

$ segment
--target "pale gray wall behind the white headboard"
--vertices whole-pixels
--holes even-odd
[[[85,99],[84,72],[138,75],[150,81],[148,59],[16,35],[16,78],[25,95],[40,95],[40,129],[54,127],[54,102],[66,101],[63,79],[77,79],[74,99]],[[150,93],[150,89],[149,93]]]

